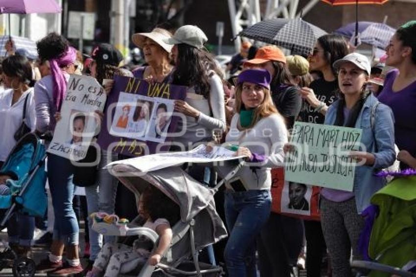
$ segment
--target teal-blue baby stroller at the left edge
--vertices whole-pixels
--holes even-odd
[[[0,209],[6,209],[0,221],[0,229],[5,227],[16,211],[30,216],[45,215],[45,159],[45,146],[41,139],[32,133],[21,138],[10,152],[0,169],[1,174],[13,176],[14,179],[6,181],[10,193],[0,195]],[[0,270],[8,265],[10,259],[13,259],[14,276],[35,275],[35,262],[27,257],[18,257],[8,246],[0,251]]]

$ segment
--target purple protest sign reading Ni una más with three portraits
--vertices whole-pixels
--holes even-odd
[[[114,80],[97,143],[126,156],[155,153],[176,130],[174,100],[185,99],[186,87],[118,75]]]

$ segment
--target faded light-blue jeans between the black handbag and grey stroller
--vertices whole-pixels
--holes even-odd
[[[116,177],[104,168],[109,162],[117,161],[116,153],[101,150],[101,161],[98,165],[98,178],[95,185],[85,187],[85,196],[87,197],[88,214],[103,211],[108,214],[114,213],[116,204],[116,192],[118,180]],[[90,260],[95,260],[103,245],[102,235],[92,230],[92,219],[88,218],[88,226],[90,227]],[[105,242],[115,242],[115,236],[105,236]]]

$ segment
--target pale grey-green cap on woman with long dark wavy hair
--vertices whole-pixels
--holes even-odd
[[[194,25],[184,25],[176,30],[172,38],[164,39],[163,42],[170,45],[185,43],[201,49],[208,41],[205,33]]]

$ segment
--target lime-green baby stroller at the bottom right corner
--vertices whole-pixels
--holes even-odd
[[[370,277],[416,277],[410,270],[416,266],[416,176],[393,179],[371,204],[379,209],[368,247],[372,261],[352,261],[351,266]]]

